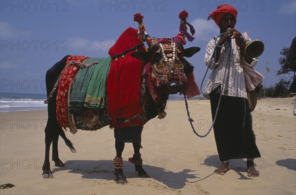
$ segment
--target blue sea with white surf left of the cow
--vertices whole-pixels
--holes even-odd
[[[46,110],[43,94],[0,93],[0,112]]]

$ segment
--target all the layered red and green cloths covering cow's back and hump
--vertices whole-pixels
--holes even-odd
[[[126,126],[143,126],[147,122],[146,88],[142,77],[144,63],[131,56],[132,52],[146,50],[137,32],[133,28],[125,30],[109,50],[111,57],[68,58],[57,92],[57,119],[62,128],[66,130],[69,127],[75,133],[77,129],[97,130],[108,123],[110,128],[122,129]],[[100,66],[103,59],[109,66]],[[100,63],[88,69],[68,65],[70,61],[86,64],[97,60]],[[96,71],[100,72],[99,76]],[[97,80],[93,80],[95,76]],[[71,82],[74,82],[73,87],[70,86]]]

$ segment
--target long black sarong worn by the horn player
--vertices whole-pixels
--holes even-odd
[[[210,96],[213,120],[219,97],[219,93]],[[221,161],[261,157],[255,143],[252,116],[246,98],[222,96],[214,134]]]

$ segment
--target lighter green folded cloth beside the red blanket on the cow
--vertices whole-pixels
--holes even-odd
[[[99,109],[107,105],[106,83],[110,65],[111,57],[101,58],[100,63],[95,65],[85,96],[85,107]]]

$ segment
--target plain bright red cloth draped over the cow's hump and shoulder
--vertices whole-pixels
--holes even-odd
[[[128,28],[125,30],[116,43],[110,48],[111,57],[121,54],[127,49],[133,48],[142,43],[137,37],[138,30]],[[144,51],[145,46],[139,47],[138,51]],[[121,119],[128,119],[135,115],[142,114],[141,107],[141,75],[144,63],[131,56],[130,51],[112,59],[109,76],[107,79],[107,96],[111,127],[122,128]],[[145,124],[145,123],[144,123]]]

